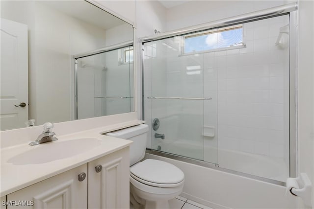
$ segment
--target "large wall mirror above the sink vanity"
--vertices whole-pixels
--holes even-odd
[[[0,129],[134,112],[133,27],[84,0],[1,0]]]

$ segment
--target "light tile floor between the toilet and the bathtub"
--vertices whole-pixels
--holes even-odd
[[[170,209],[211,209],[207,206],[188,200],[184,197],[178,196],[175,199],[169,201]],[[130,204],[130,209],[133,209]]]

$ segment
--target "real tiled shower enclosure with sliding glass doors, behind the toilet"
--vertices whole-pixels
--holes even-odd
[[[289,22],[286,13],[143,41],[143,115],[154,154],[285,182],[294,108]]]

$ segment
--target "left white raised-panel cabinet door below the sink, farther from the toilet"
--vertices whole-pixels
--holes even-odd
[[[82,172],[86,178],[78,181]],[[87,163],[13,192],[7,200],[15,201],[7,209],[87,209]]]

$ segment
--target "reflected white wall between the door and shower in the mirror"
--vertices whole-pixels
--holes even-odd
[[[70,120],[71,55],[104,46],[104,29],[36,2],[37,124]]]

